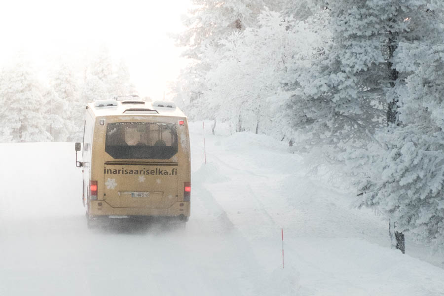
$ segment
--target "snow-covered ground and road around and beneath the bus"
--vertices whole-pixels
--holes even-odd
[[[88,230],[74,144],[0,144],[0,295],[444,295],[440,257],[391,250],[385,222],[285,145],[219,126],[204,164],[190,126],[185,229]]]

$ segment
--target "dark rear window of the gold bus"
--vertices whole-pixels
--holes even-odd
[[[108,123],[105,151],[115,159],[170,159],[178,152],[174,123]]]

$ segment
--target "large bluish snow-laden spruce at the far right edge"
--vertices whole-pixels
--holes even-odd
[[[387,101],[395,119],[376,133],[360,182],[361,204],[376,207],[396,230],[444,246],[443,4],[414,1],[398,15],[392,70],[398,80]],[[389,110],[390,111],[390,110]],[[390,120],[390,121],[393,121]]]

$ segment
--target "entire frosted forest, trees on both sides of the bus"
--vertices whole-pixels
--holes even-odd
[[[192,2],[170,84],[190,121],[288,143],[354,206],[444,247],[442,1]],[[106,51],[45,78],[20,58],[1,69],[0,142],[81,141],[86,102],[137,92]]]

